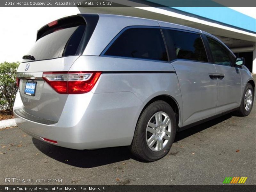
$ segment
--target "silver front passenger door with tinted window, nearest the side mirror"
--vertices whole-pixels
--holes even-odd
[[[218,102],[216,113],[237,108],[242,93],[241,73],[234,67],[235,58],[220,42],[207,37],[218,74]]]

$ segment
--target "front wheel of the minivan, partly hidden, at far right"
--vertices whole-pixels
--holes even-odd
[[[241,105],[236,111],[236,115],[238,116],[249,115],[252,111],[253,98],[254,98],[253,87],[251,84],[248,83],[244,89]]]

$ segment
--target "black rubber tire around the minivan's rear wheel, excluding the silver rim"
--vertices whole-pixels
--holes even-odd
[[[170,139],[167,141],[163,149],[159,151],[152,151],[146,141],[146,129],[150,118],[157,112],[162,111],[166,113],[171,120],[171,135]],[[168,128],[169,129],[169,128]],[[152,162],[164,157],[172,146],[176,134],[176,118],[172,110],[172,107],[163,100],[157,100],[149,104],[147,108],[144,109],[139,117],[134,132],[134,137],[132,144],[130,146],[131,153],[138,157],[139,159]]]

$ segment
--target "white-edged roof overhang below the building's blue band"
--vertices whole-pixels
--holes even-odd
[[[206,31],[213,35],[256,42],[256,34],[208,21],[200,17],[173,12],[166,7],[79,7],[81,12],[119,14],[161,20]]]

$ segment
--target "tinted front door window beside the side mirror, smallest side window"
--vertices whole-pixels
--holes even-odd
[[[219,42],[207,37],[214,63],[222,65],[232,65],[233,59],[231,53]]]

